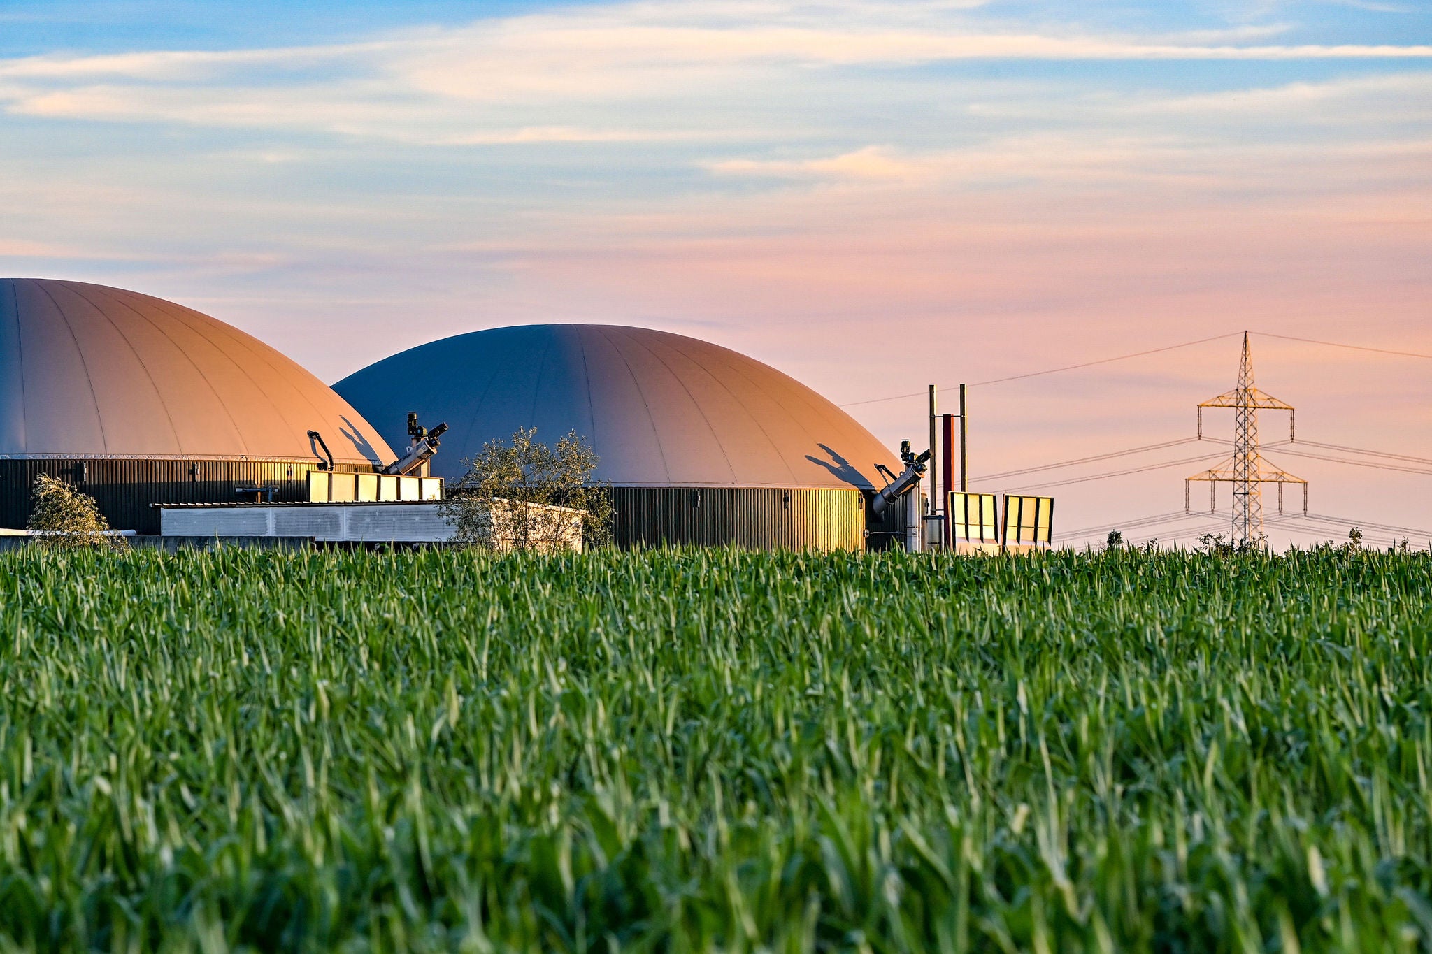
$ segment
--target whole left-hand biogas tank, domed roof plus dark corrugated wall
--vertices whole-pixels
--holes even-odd
[[[24,525],[42,472],[95,496],[112,526],[153,533],[150,503],[299,501],[309,471],[394,456],[342,398],[236,328],[137,292],[0,279],[0,526]]]

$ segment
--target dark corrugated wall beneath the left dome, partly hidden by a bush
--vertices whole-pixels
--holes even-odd
[[[40,473],[93,496],[112,528],[158,533],[159,511],[150,503],[233,503],[241,486],[272,486],[275,501],[305,501],[316,469],[315,461],[0,461],[0,526],[23,528],[30,519],[30,488]]]

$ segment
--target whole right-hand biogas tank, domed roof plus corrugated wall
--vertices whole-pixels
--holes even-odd
[[[432,473],[518,428],[569,431],[600,458],[621,545],[863,549],[902,542],[876,513],[895,456],[789,375],[695,338],[611,325],[527,325],[401,352],[334,385],[390,443],[410,412],[444,421]],[[874,536],[868,535],[874,532]]]

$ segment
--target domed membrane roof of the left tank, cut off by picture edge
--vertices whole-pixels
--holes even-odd
[[[401,423],[401,419],[400,419]],[[394,453],[321,380],[249,335],[163,299],[0,279],[0,458]]]

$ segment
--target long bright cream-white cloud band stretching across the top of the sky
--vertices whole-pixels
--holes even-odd
[[[514,109],[650,107],[713,89],[809,83],[800,70],[958,60],[1432,59],[1432,44],[1273,44],[1280,26],[1101,36],[1001,29],[978,3],[626,3],[508,16],[368,43],[232,51],[39,56],[0,62],[14,114],[102,122],[305,129],[398,142],[500,144],[699,137]]]

